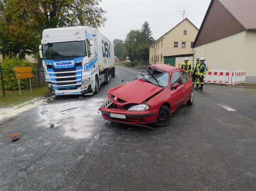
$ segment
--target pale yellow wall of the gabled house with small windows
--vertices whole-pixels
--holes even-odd
[[[187,34],[184,35],[184,30]],[[164,59],[161,61],[161,54],[163,56],[172,56],[180,54],[190,54],[192,52],[191,42],[194,42],[194,39],[197,35],[198,29],[194,27],[189,20],[184,19],[180,24],[173,28],[170,32],[166,33],[163,38],[160,38],[150,47],[149,55],[150,64],[163,63]],[[174,47],[174,42],[178,42],[178,47]],[[182,42],[186,42],[186,47],[182,48]],[[159,55],[159,60],[158,60]],[[155,62],[156,56],[156,62]]]

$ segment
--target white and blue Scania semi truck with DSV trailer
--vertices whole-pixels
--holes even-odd
[[[55,95],[97,94],[102,83],[115,77],[113,45],[92,27],[45,29],[39,53]]]

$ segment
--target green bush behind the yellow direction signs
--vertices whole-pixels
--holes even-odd
[[[36,64],[28,62],[26,59],[20,59],[18,57],[5,57],[2,59],[2,71],[4,78],[4,88],[5,89],[19,89],[18,80],[16,79],[15,72],[13,71],[16,66],[31,66],[32,73],[37,74]],[[31,80],[35,80],[34,77]],[[21,88],[28,88],[27,79],[21,79]]]

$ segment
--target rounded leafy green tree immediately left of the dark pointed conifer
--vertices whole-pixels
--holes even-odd
[[[124,53],[123,57],[129,56],[129,60],[140,59],[137,54],[137,46],[141,42],[141,32],[139,30],[131,30],[124,42]],[[125,54],[125,55],[124,55]]]

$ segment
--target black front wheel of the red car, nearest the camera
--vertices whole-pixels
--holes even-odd
[[[172,113],[167,106],[161,106],[159,109],[158,117],[155,122],[155,125],[158,127],[167,126],[171,120]]]

